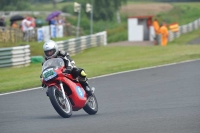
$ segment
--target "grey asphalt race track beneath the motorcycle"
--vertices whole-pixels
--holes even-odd
[[[0,96],[0,133],[200,133],[200,61],[89,80],[99,111],[61,118],[40,89]]]

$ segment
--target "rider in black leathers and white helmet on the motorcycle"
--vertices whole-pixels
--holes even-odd
[[[65,61],[66,69],[64,70],[64,73],[71,73],[73,78],[78,78],[80,84],[83,86],[86,93],[90,96],[92,95],[92,90],[90,86],[88,85],[86,73],[82,68],[77,68],[75,66],[75,61],[73,61],[70,58],[70,55],[68,52],[60,51],[58,50],[57,43],[53,40],[49,40],[44,43],[43,45],[43,51],[45,55],[45,61],[51,58],[57,58],[57,57],[63,57]],[[72,66],[68,66],[68,60],[71,62]],[[45,87],[42,85],[42,87]],[[48,95],[48,94],[47,94]]]

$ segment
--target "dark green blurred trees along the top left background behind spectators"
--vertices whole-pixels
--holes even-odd
[[[34,3],[52,3],[56,4],[60,0],[0,0],[0,10],[2,11],[21,11],[29,10],[30,5]],[[82,9],[86,10],[86,3],[93,5],[94,20],[113,20],[116,12],[127,0],[61,0],[62,2],[78,2]],[[41,6],[42,8],[42,6]],[[53,10],[53,8],[52,8]]]

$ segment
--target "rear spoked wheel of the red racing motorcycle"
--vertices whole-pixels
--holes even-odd
[[[86,103],[85,107],[83,108],[83,110],[86,113],[88,113],[89,115],[94,115],[97,113],[98,103],[97,103],[97,99],[94,94],[91,95],[90,97],[88,97],[87,103]]]

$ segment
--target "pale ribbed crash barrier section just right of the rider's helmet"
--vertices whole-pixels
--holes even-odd
[[[106,31],[93,35],[82,36],[79,38],[73,38],[66,41],[58,41],[59,50],[64,50],[74,55],[81,51],[100,45],[107,45],[107,33]]]

